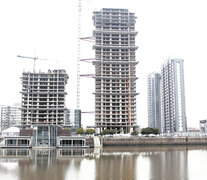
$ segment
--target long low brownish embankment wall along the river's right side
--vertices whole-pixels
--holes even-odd
[[[207,137],[103,137],[103,146],[207,145]]]

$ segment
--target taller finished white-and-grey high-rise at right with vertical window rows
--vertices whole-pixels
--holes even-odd
[[[184,68],[182,59],[170,59],[161,70],[161,125],[163,132],[186,132]]]

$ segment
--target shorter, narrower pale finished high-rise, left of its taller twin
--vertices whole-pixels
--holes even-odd
[[[148,80],[148,126],[161,132],[160,74],[151,73]]]

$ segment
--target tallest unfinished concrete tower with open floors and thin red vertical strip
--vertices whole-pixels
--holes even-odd
[[[127,133],[136,126],[136,17],[127,9],[95,11],[95,125]]]

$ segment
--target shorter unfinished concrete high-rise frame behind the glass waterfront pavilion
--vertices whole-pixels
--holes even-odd
[[[68,75],[65,70],[47,73],[23,72],[22,74],[21,124],[64,125],[65,86]]]

